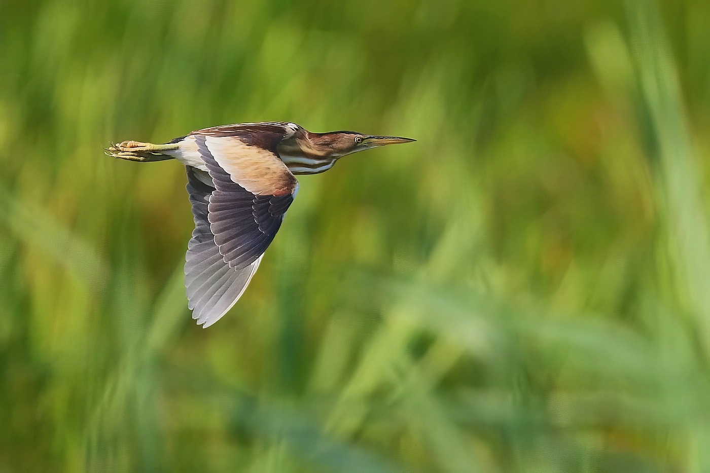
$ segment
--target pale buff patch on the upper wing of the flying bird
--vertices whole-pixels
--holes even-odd
[[[295,178],[273,151],[246,145],[231,136],[205,136],[204,143],[231,180],[249,192],[255,195],[293,192]]]

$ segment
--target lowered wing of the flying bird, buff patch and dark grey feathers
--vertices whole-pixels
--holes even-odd
[[[258,135],[193,136],[209,176],[200,180],[200,171],[188,168],[195,232],[187,251],[185,284],[192,317],[207,327],[246,288],[293,202],[298,183],[276,151],[283,135],[273,137],[271,143]],[[227,304],[229,298],[234,300]]]

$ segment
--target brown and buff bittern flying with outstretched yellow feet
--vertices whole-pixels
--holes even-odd
[[[343,156],[411,141],[262,121],[200,129],[163,144],[111,143],[104,151],[139,163],[185,165],[195,220],[185,255],[187,307],[206,328],[244,294],[296,197],[296,175],[323,173]]]

